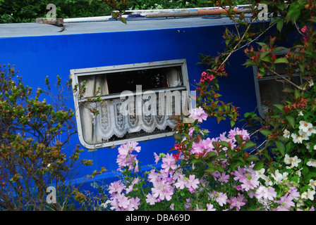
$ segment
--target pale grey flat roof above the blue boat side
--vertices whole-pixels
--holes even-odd
[[[35,37],[47,35],[89,34],[104,32],[130,32],[162,30],[186,27],[228,25],[226,16],[198,16],[189,18],[127,18],[127,24],[119,20],[63,23],[63,27],[39,23],[0,24],[0,37]]]

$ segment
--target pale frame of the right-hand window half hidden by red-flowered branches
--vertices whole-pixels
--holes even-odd
[[[281,51],[277,51],[277,53],[275,53],[276,56],[281,56],[281,55],[286,55],[286,53],[288,53],[290,49],[284,49]],[[260,117],[265,118],[265,113],[263,112],[263,108],[262,108],[262,103],[261,103],[261,95],[260,95],[260,85],[259,82],[260,81],[265,81],[265,80],[271,80],[274,79],[274,76],[269,76],[269,77],[262,77],[262,78],[258,78],[257,77],[257,73],[258,73],[258,68],[257,65],[253,65],[253,76],[255,78],[255,95],[256,95],[256,99],[257,99],[257,109],[259,111]],[[283,75],[283,74],[282,74]],[[288,77],[288,75],[283,75],[284,77]],[[298,76],[298,75],[293,75]],[[276,81],[277,82],[277,81]],[[300,78],[300,82],[302,82],[302,78]]]

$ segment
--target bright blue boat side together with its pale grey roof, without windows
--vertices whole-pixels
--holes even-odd
[[[205,70],[204,65],[198,64],[199,56],[216,56],[224,50],[222,35],[226,26],[232,26],[227,18],[200,17],[128,20],[127,25],[120,21],[68,23],[63,31],[61,27],[36,23],[0,25],[0,63],[16,65],[25,84],[45,89],[45,77],[49,76],[51,84],[56,83],[57,75],[66,82],[73,69],[186,59],[190,90],[194,91]],[[236,52],[230,62],[226,67],[229,76],[219,80],[221,100],[239,107],[242,116],[257,106],[253,70],[243,66],[243,51]],[[66,103],[74,108],[73,98]],[[229,121],[217,124],[216,119],[203,122],[202,127],[214,137],[231,129]],[[71,153],[80,144],[78,134],[69,142]],[[153,154],[167,153],[174,143],[172,136],[141,141],[140,165],[150,168],[154,165]],[[78,181],[101,167],[109,172],[95,180],[115,179],[118,147],[81,153],[80,157],[92,160],[93,165],[79,168]]]

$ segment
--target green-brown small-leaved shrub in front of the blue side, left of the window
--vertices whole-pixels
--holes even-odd
[[[81,163],[91,165],[78,161],[79,146],[68,157],[64,153],[76,132],[73,111],[64,110],[61,93],[54,105],[48,104],[40,99],[49,97],[50,91],[33,93],[16,75],[14,67],[0,65],[0,207],[65,210],[72,207],[70,196],[78,193],[69,186],[77,174],[74,168]],[[56,87],[63,90],[60,83]],[[47,204],[49,186],[56,187],[59,203]]]

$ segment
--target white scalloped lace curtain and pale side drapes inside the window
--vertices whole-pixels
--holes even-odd
[[[181,85],[178,70],[170,70],[167,78],[169,87]],[[84,97],[93,96],[98,89],[99,94],[102,96],[109,94],[107,75],[90,76],[87,77],[85,81],[86,91]],[[137,98],[137,96],[133,96],[133,98]],[[152,100],[150,101],[151,105],[146,105],[145,108],[150,110],[147,110],[147,112],[142,113],[141,115],[136,115],[135,111],[142,110],[149,100]],[[143,94],[142,101],[134,101],[135,108],[129,109],[130,112],[133,111],[134,113],[122,112],[121,106],[124,101],[127,100],[120,98],[104,100],[102,103],[82,103],[79,110],[81,126],[83,129],[83,139],[86,143],[96,144],[108,141],[114,135],[121,138],[126,135],[126,133],[134,133],[141,130],[147,133],[152,133],[155,129],[163,130],[166,129],[166,127],[174,128],[174,120],[167,120],[170,115],[166,112],[174,112],[174,107],[179,107],[178,104],[165,104],[165,113],[162,115],[162,112],[158,113],[157,111],[154,112],[154,110],[157,110],[159,104],[164,102],[154,100],[155,99],[153,99],[151,94]],[[91,113],[92,109],[97,109],[99,114],[94,115]]]

